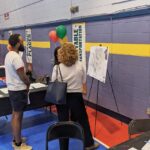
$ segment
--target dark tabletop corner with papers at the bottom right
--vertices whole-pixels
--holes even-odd
[[[149,139],[150,139],[150,131],[145,132],[145,133],[139,135],[138,137],[130,139],[119,145],[116,145],[116,146],[110,148],[109,150],[128,150],[131,147],[141,150],[142,147],[146,144],[145,141],[148,141]]]

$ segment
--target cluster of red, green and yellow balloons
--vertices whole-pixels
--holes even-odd
[[[66,27],[63,25],[60,25],[56,27],[56,30],[50,31],[48,35],[51,41],[53,42],[59,41],[60,44],[63,44],[64,42],[68,41],[66,34],[67,34]]]

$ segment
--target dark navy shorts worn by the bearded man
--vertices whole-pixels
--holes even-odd
[[[8,91],[9,99],[13,111],[24,111],[27,106],[28,96],[27,90],[22,91]]]

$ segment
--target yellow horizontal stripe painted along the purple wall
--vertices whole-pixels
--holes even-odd
[[[0,40],[0,44],[7,45],[7,40]],[[26,45],[26,42],[24,42]],[[107,46],[111,54],[115,55],[130,55],[140,57],[150,57],[150,44],[123,44],[123,43],[90,43],[85,45],[86,52],[90,51],[91,46]],[[50,48],[50,42],[33,41],[32,47],[34,48]]]

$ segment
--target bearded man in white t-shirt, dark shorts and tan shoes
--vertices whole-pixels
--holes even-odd
[[[9,92],[9,99],[12,106],[12,132],[15,150],[31,150],[32,147],[25,144],[25,139],[21,137],[23,111],[27,105],[27,93],[30,82],[25,74],[24,63],[19,55],[19,50],[23,47],[22,37],[13,34],[9,37],[11,50],[5,57],[6,84]]]

